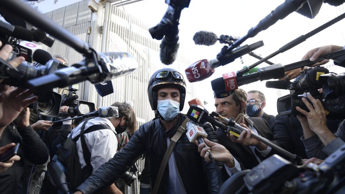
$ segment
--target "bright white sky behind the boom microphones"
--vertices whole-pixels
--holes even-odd
[[[242,37],[246,35],[250,28],[256,26],[261,19],[266,17],[267,14],[283,2],[283,0],[191,0],[189,7],[183,9],[181,12],[179,25],[180,44],[188,45],[190,50],[189,55],[192,61],[214,59],[224,45],[217,42],[215,45],[209,47],[197,46],[193,41],[195,32],[206,30],[216,33],[218,37],[220,35]],[[122,9],[153,27],[160,21],[167,7],[168,5],[165,4],[164,0],[143,0],[123,6]],[[305,35],[309,31],[344,12],[343,5],[333,7],[325,3],[314,19],[309,19],[293,12],[283,20],[278,20],[277,23],[267,30],[258,33],[254,38],[249,38],[242,45],[263,40],[265,46],[256,49],[254,52],[265,57],[278,50],[289,41],[294,40],[300,35]],[[299,61],[310,49],[329,44],[344,45],[345,35],[344,32],[342,32],[344,24],[345,21],[340,21],[317,33],[300,45],[269,60],[274,63],[287,65]],[[249,55],[243,56],[243,60],[244,64],[241,64],[240,60],[236,59],[228,65],[218,67],[211,77],[196,83],[198,88],[198,94],[196,96],[202,96],[201,100],[208,101],[208,105],[205,106],[208,111],[215,110],[210,81],[221,77],[224,73],[230,71],[236,72],[245,65],[252,65],[257,61],[257,59]],[[265,66],[267,66],[267,64],[259,65],[259,67]],[[345,72],[343,68],[337,69],[340,70],[336,73]],[[277,114],[277,98],[289,94],[288,90],[266,88],[265,81],[257,81],[252,84],[241,86],[240,88],[246,91],[252,89],[261,90],[266,96],[266,107],[264,110],[266,113],[272,115]]]

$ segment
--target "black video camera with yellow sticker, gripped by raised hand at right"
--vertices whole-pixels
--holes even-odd
[[[286,89],[289,89],[291,94],[278,98],[278,114],[299,115],[301,113],[296,110],[296,106],[309,111],[302,98],[305,97],[310,104],[313,104],[307,96],[311,95],[322,101],[328,119],[345,118],[345,96],[343,95],[345,80],[343,74],[328,73],[329,71],[324,67],[308,68],[294,82],[284,81],[280,88],[286,85]],[[321,90],[318,90],[320,88],[322,88],[322,93]]]

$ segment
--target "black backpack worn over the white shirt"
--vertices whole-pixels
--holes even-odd
[[[72,133],[63,144],[58,145],[58,152],[48,164],[48,174],[51,183],[59,190],[64,190],[61,185],[68,186],[68,191],[75,190],[92,174],[92,166],[90,163],[91,154],[87,148],[84,134],[94,132],[100,129],[111,129],[106,124],[92,125],[84,131],[85,125],[89,119],[86,119],[80,129],[80,134],[72,139]],[[79,162],[78,150],[76,142],[80,137],[81,147],[83,151],[86,166],[81,168]],[[55,176],[55,177],[54,177]],[[61,178],[65,177],[66,178]],[[65,180],[66,179],[66,180]],[[65,192],[65,191],[63,191]]]

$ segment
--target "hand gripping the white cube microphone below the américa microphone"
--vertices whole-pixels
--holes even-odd
[[[206,162],[211,161],[211,159],[208,157],[209,153],[207,152],[208,150],[210,150],[215,161],[223,162],[229,168],[235,167],[233,155],[231,155],[223,145],[211,142],[206,138],[204,138],[204,141],[207,145],[205,145],[204,143],[199,144],[197,140],[195,142],[198,146],[198,152],[200,153],[200,156],[205,158]]]

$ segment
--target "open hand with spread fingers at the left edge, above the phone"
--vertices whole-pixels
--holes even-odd
[[[31,95],[32,91],[23,88],[3,91],[0,94],[0,113],[3,113],[0,119],[0,134],[7,125],[18,117],[25,107],[37,100],[37,96],[29,97]]]

